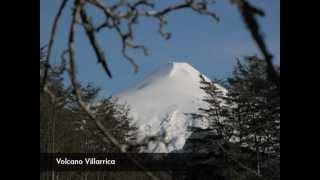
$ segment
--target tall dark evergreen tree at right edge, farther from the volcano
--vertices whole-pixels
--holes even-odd
[[[228,79],[234,126],[241,146],[256,154],[257,174],[263,174],[266,156],[279,157],[280,148],[280,94],[268,80],[266,64],[256,56],[246,57]],[[264,156],[264,157],[263,157]]]

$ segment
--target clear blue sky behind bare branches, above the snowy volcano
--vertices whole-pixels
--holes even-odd
[[[40,43],[47,44],[53,17],[61,0],[40,1]],[[173,4],[179,0],[159,1],[160,6]],[[280,61],[280,1],[251,0],[253,4],[265,10],[266,17],[259,18],[267,45],[275,55],[275,62]],[[67,35],[71,15],[71,3],[66,7],[59,24],[57,39],[52,58],[59,61],[61,52],[67,47]],[[76,58],[79,79],[92,82],[102,88],[102,95],[108,96],[119,92],[140,81],[150,72],[168,61],[190,63],[209,78],[226,78],[230,76],[236,62],[235,57],[259,54],[249,32],[241,20],[240,14],[229,0],[218,0],[211,7],[221,21],[200,16],[190,10],[177,11],[167,17],[165,29],[172,33],[170,40],[164,40],[158,34],[158,22],[144,19],[136,26],[136,42],[144,44],[150,51],[144,56],[139,50],[129,51],[139,64],[138,74],[133,73],[132,66],[120,52],[120,39],[114,32],[99,33],[99,41],[109,59],[113,79],[107,78],[102,68],[96,63],[95,54],[90,47],[82,28],[76,36]],[[100,14],[91,13],[100,17]]]

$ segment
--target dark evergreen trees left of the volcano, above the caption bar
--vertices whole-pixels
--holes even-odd
[[[40,80],[43,75],[44,49],[40,52]],[[118,152],[102,141],[96,124],[78,105],[71,87],[65,87],[65,68],[50,67],[48,86],[52,94],[40,93],[40,151],[41,152]],[[97,100],[99,88],[91,84],[80,86],[83,101],[90,104],[96,117],[110,129],[121,143],[134,140],[135,128],[129,124],[129,109],[107,98]]]

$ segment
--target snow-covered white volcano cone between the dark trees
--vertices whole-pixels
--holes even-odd
[[[207,106],[202,101],[205,93],[200,89],[199,75],[188,63],[170,62],[114,96],[118,103],[129,105],[129,116],[139,128],[138,141],[146,136],[162,135],[168,142],[168,146],[149,143],[144,151],[160,153],[182,149],[190,136],[189,126],[206,127],[203,121],[193,120],[189,114]],[[226,92],[221,86],[217,87]]]

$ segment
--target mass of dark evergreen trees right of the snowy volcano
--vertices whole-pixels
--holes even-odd
[[[194,117],[204,117],[209,126],[193,129],[193,136],[202,138],[190,138],[185,148],[211,152],[220,147],[223,156],[215,153],[213,163],[227,179],[280,178],[280,94],[266,66],[256,56],[238,60],[225,95],[200,76],[209,106]]]

